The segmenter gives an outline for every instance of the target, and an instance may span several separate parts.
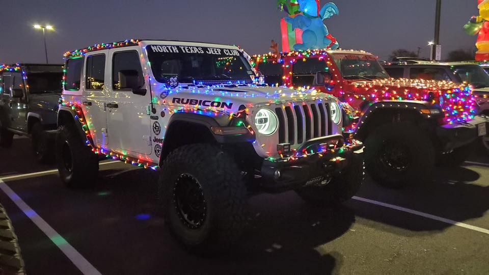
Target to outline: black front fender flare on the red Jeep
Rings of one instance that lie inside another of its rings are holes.
[[[421,113],[422,109],[435,109],[439,108],[437,106],[431,105],[427,101],[415,101],[415,100],[404,100],[404,101],[379,101],[375,102],[372,105],[370,105],[364,115],[360,118],[358,122],[358,127],[355,132],[355,136],[359,140],[364,140],[367,133],[368,133],[368,127],[369,127],[369,122],[372,120],[372,118],[382,112],[386,111],[402,111],[402,112],[409,112],[411,114],[414,114],[420,119],[429,119],[433,118],[435,116],[429,116],[427,114]],[[443,114],[440,114],[440,116],[443,116]]]

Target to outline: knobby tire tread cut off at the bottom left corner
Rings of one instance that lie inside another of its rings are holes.
[[[0,274],[25,274],[18,238],[4,207],[0,204]]]

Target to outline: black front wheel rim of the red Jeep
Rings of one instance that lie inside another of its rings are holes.
[[[381,154],[381,162],[384,166],[394,172],[408,170],[412,157],[408,146],[398,141],[387,141],[384,143]]]

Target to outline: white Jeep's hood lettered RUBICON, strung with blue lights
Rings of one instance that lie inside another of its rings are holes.
[[[256,85],[179,85],[174,89],[159,87],[153,92],[153,96],[157,97],[158,104],[214,107],[227,109],[230,112],[237,112],[241,105],[251,108],[312,99],[338,101],[336,97],[317,92],[316,90],[261,87]]]

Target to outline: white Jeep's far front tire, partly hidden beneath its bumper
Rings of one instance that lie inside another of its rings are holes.
[[[365,176],[363,157],[353,154],[348,166],[323,186],[306,186],[295,190],[306,202],[321,207],[337,206],[351,199],[362,186]]]

